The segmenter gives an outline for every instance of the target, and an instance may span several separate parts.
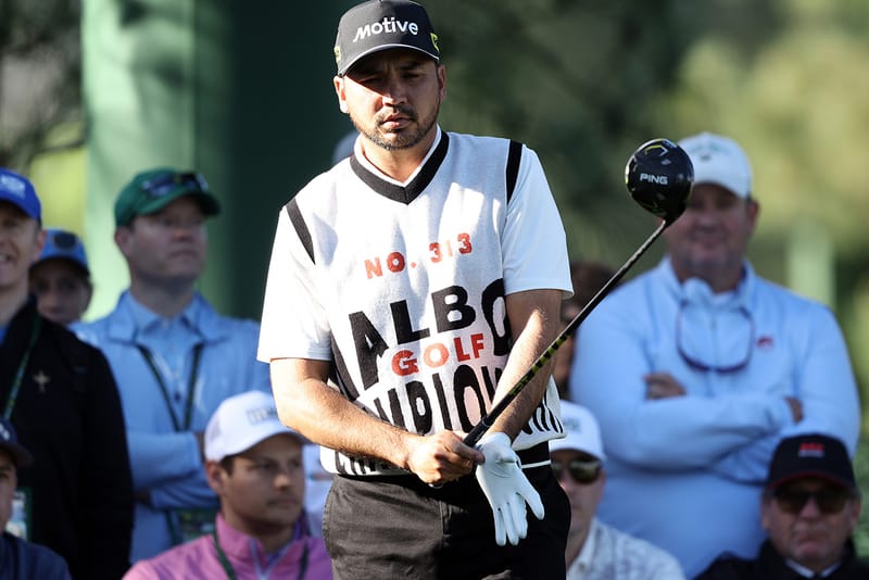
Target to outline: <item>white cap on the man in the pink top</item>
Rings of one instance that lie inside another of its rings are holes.
[[[205,427],[205,458],[219,462],[224,457],[251,449],[278,433],[305,439],[278,419],[275,400],[263,391],[248,391],[221,403]]]

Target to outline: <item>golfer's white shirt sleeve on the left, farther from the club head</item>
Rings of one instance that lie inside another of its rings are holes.
[[[331,360],[329,324],[316,292],[316,269],[286,209],[268,264],[256,358]]]

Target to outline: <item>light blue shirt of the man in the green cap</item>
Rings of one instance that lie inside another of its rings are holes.
[[[150,493],[150,505],[136,504],[130,559],[154,556],[173,545],[167,510],[217,507],[193,433],[205,430],[224,399],[254,389],[270,393],[268,365],[255,360],[259,325],[217,314],[200,294],[175,318],[162,318],[126,291],[108,316],[75,330],[102,349],[112,366],[134,489]],[[150,354],[167,396],[140,348]]]

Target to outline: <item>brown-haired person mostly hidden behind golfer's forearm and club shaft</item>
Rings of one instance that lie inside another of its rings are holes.
[[[576,261],[570,264],[574,295],[562,301],[562,329],[567,328],[615,273],[613,268],[600,262]],[[576,332],[581,330],[580,326]],[[552,379],[555,381],[562,399],[567,399],[570,392],[568,381],[570,380],[570,366],[574,364],[574,342],[572,336],[564,341],[555,353],[552,366]]]

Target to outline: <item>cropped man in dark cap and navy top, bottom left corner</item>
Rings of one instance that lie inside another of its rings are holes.
[[[13,512],[17,470],[30,465],[30,452],[18,444],[15,428],[0,417],[0,530],[5,530]],[[0,540],[0,578],[3,580],[68,580],[66,562],[55,552],[30,543],[8,531]]]

